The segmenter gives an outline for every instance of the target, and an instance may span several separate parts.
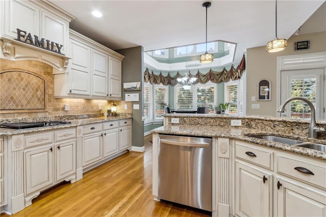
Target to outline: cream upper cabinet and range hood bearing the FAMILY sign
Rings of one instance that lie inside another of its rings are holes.
[[[69,22],[74,17],[48,1],[0,2],[0,58],[68,65]]]

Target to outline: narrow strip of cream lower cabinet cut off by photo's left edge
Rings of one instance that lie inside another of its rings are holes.
[[[8,185],[7,185],[7,142],[5,137],[0,137],[0,210],[7,205]]]

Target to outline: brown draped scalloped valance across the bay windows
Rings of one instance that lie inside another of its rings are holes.
[[[203,74],[198,70],[195,75],[189,74],[189,77],[197,77],[195,84],[206,84],[209,81],[216,84],[240,79],[244,69],[246,69],[246,60],[244,59],[243,54],[242,59],[236,68],[232,65],[228,71],[224,68],[221,72],[216,72],[210,69],[206,74]],[[153,72],[150,73],[148,68],[146,68],[144,72],[144,82],[156,85],[162,84],[166,86],[175,86],[178,84],[177,78],[179,77],[182,77],[179,72],[174,76],[171,76],[170,73],[167,76],[162,75],[162,73],[156,75]]]

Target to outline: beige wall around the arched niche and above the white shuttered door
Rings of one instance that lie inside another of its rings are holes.
[[[271,38],[272,39],[272,38]],[[295,41],[310,40],[310,49],[294,51]],[[326,32],[297,35],[288,39],[285,50],[276,53],[267,53],[264,47],[247,49],[247,115],[276,115],[276,61],[279,56],[300,55],[303,53],[314,53],[326,51]],[[271,83],[271,101],[257,101],[257,83],[261,79],[268,79]],[[251,101],[252,96],[256,101]],[[252,104],[259,104],[259,109],[252,109]]]

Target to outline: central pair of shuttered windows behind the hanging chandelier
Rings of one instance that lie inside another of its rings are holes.
[[[197,110],[197,107],[209,107],[209,112],[214,113],[216,104],[216,84],[211,82],[197,84],[190,90],[184,90],[182,86],[175,86],[176,110]]]

